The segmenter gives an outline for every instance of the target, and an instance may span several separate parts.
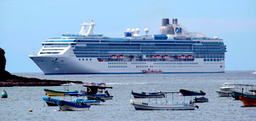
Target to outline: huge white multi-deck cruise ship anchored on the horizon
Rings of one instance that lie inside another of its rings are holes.
[[[160,22],[159,22],[160,23]],[[188,32],[177,19],[162,19],[159,34],[140,34],[127,29],[121,38],[94,33],[92,20],[83,23],[78,34],[50,37],[30,59],[45,75],[224,72],[226,45],[223,39]],[[89,27],[86,32],[86,27]]]

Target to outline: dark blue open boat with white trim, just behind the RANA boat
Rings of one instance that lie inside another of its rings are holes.
[[[133,91],[131,93],[134,98],[163,98],[163,97],[165,97],[164,93],[161,93],[160,91],[159,91],[159,93],[145,93],[145,92],[135,93]]]

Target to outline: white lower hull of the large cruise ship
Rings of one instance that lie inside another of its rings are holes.
[[[146,64],[131,64],[132,62],[135,62],[135,61],[128,61],[127,64],[109,64],[112,61],[100,62],[97,60],[97,58],[44,57],[44,56],[41,56],[41,57],[30,56],[30,57],[33,58],[32,60],[46,75],[142,73],[142,70],[161,70],[163,71],[163,73],[203,73],[203,72],[224,72],[225,70],[224,61],[208,62],[208,61],[203,61],[203,59],[200,59],[200,58],[198,59],[196,58],[194,59],[194,61],[151,61],[151,62],[143,61]],[[53,61],[56,58],[58,58],[59,62]],[[84,59],[84,61],[82,59]],[[156,65],[154,64],[156,62],[168,63],[168,64]],[[193,62],[198,64],[186,64],[186,65],[185,64],[169,64],[170,62],[172,63],[173,62],[175,63]],[[118,67],[110,68],[109,66],[118,66]],[[119,66],[125,66],[125,67],[119,67]],[[144,67],[137,67],[137,66],[144,66]]]

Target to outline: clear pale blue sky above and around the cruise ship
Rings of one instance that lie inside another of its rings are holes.
[[[225,70],[256,69],[255,0],[1,0],[0,47],[9,72],[42,72],[28,57],[48,37],[79,33],[92,18],[94,32],[122,37],[127,28],[158,34],[162,18],[178,18],[190,32],[218,36],[227,45]]]

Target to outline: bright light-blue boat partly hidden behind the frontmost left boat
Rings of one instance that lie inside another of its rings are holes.
[[[58,106],[57,102],[60,99],[53,99],[51,97],[43,97],[43,100],[46,102],[48,106]],[[70,103],[80,103],[84,102],[86,105],[99,105],[100,100],[84,100],[84,99],[73,99],[73,101],[69,101]]]

